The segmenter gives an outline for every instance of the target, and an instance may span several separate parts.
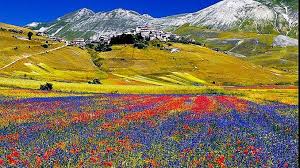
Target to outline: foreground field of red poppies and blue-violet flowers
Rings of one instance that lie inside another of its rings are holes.
[[[224,95],[0,97],[0,167],[298,167],[298,128]]]

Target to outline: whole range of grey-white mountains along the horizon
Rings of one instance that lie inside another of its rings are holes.
[[[26,27],[67,39],[88,39],[122,33],[141,25],[172,31],[184,24],[220,31],[279,32],[298,37],[298,1],[223,0],[195,13],[163,18],[154,18],[125,9],[95,13],[83,8],[53,22],[33,22]]]

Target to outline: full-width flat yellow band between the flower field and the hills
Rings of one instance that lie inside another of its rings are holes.
[[[45,81],[0,77],[0,96],[11,97],[64,97],[93,94],[217,94],[235,95],[257,103],[279,102],[298,105],[298,88],[235,88],[222,86],[142,86],[90,85],[86,83],[52,82],[54,91],[38,91]]]

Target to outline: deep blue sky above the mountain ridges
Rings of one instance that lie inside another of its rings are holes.
[[[195,12],[220,0],[6,0],[0,5],[0,22],[25,25],[49,22],[80,8],[95,12],[115,8],[135,10],[153,17]]]

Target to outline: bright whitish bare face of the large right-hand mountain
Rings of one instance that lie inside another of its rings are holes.
[[[223,0],[201,11],[162,18],[159,24],[165,26],[192,25],[215,29],[229,29],[240,21],[252,19],[262,23],[274,19],[274,12],[254,0]]]

